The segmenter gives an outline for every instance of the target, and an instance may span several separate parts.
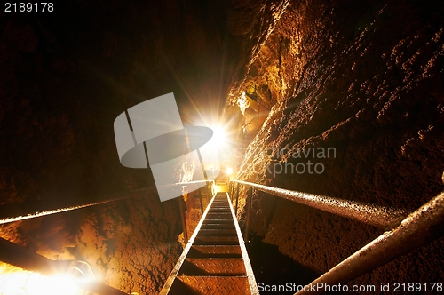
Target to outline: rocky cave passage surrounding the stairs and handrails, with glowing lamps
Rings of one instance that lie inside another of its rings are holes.
[[[231,167],[232,182],[405,214],[444,190],[440,1],[24,4],[5,3],[0,13],[0,238],[15,249],[4,260],[25,250],[75,261],[77,273],[127,294],[161,292],[216,192],[161,202],[151,167],[122,164],[114,123],[167,93],[181,124],[210,127],[226,142],[211,149],[221,149],[220,170]],[[199,167],[169,175],[216,177],[194,174]],[[397,227],[248,194],[241,186],[236,218],[258,285],[310,283]],[[21,218],[29,213],[42,216]],[[440,292],[431,288],[444,283],[441,225],[400,244],[427,243],[346,284],[379,288],[361,294],[394,294],[396,283],[404,293],[402,283]],[[2,262],[0,294],[31,293],[35,280],[52,285],[37,276]],[[54,288],[43,292],[61,293]]]

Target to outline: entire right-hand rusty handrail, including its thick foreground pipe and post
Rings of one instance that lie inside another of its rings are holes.
[[[313,208],[356,219],[367,224],[392,228],[392,230],[378,236],[375,240],[353,253],[353,255],[340,262],[336,267],[331,268],[312,283],[305,285],[294,295],[324,293],[328,291],[326,290],[328,286],[337,286],[341,283],[350,282],[377,267],[387,264],[393,259],[397,259],[426,243],[432,242],[432,240],[442,235],[442,233],[438,233],[439,229],[437,226],[444,222],[444,192],[432,198],[431,201],[425,203],[413,213],[404,215],[406,213],[403,210],[394,210],[392,208],[342,200],[325,195],[313,195],[277,187],[267,187],[242,180],[232,181],[238,184],[237,194],[239,194],[239,184],[242,184],[250,186],[250,188],[255,187],[271,195],[277,195],[297,203],[304,203]],[[251,199],[252,194],[250,193],[248,197]],[[238,203],[237,199],[236,203]],[[247,216],[249,216],[250,203],[251,200],[247,202]],[[362,217],[356,218],[357,214],[361,214]],[[378,214],[383,215],[381,219],[377,217]],[[248,218],[246,224],[246,231],[248,232]],[[246,233],[246,235],[248,234]]]

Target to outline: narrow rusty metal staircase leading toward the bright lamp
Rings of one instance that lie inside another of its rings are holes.
[[[211,199],[161,294],[259,294],[226,192]]]

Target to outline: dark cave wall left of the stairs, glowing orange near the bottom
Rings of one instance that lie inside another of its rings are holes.
[[[119,163],[115,117],[168,92],[185,123],[222,113],[234,73],[245,73],[260,32],[287,4],[53,3],[53,12],[0,12],[1,204],[91,203],[154,186],[150,171]],[[181,251],[178,216],[175,200],[152,194],[0,233],[51,259],[84,259],[123,291],[153,294]]]

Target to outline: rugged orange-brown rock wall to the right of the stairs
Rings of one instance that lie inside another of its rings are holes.
[[[230,92],[235,104],[257,84],[273,105],[240,178],[408,211],[439,194],[443,13],[440,2],[291,2]],[[304,155],[309,148],[314,156]],[[320,148],[336,155],[323,157]],[[255,234],[320,275],[383,232],[260,192],[253,211]],[[442,282],[443,243],[353,283]]]

